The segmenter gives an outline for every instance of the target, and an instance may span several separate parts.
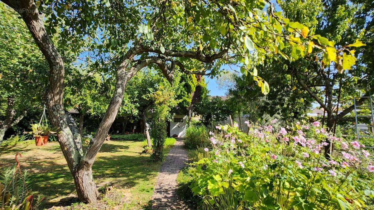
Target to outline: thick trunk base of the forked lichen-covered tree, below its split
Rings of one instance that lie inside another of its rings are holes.
[[[81,201],[94,203],[100,198],[95,182],[92,178],[92,167],[86,166],[73,173],[77,195]]]

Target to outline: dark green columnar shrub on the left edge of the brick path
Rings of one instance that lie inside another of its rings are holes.
[[[153,138],[153,154],[151,159],[154,162],[163,160],[163,145],[166,139],[166,123],[163,121],[155,122],[151,130],[151,137]]]

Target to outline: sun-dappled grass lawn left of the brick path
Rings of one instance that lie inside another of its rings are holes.
[[[174,139],[167,139],[165,155],[174,143]],[[161,164],[150,162],[148,154],[140,154],[144,144],[141,141],[105,141],[92,166],[98,188],[113,186],[121,189],[126,197],[122,209],[149,207]],[[17,152],[22,154],[19,158],[21,169],[30,172],[31,188],[46,198],[43,207],[51,207],[61,198],[76,194],[74,181],[58,142],[37,147],[30,140],[15,146],[0,147],[0,169],[15,164],[14,156]]]

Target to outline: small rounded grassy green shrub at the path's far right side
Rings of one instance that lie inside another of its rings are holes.
[[[208,130],[205,126],[188,126],[186,130],[186,137],[184,145],[188,149],[196,149],[198,147],[208,147],[210,141],[208,140]]]

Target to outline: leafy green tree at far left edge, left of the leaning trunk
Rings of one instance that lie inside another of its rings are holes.
[[[0,4],[0,144],[5,132],[16,125],[29,109],[40,109],[47,66],[14,12]]]

